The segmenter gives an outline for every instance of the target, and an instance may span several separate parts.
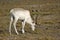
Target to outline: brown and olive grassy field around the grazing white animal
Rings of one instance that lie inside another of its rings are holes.
[[[26,24],[25,34],[22,34],[18,20],[19,35],[13,26],[9,34],[9,11],[17,7],[30,10],[36,23],[34,32]],[[0,0],[0,40],[60,40],[60,0]]]

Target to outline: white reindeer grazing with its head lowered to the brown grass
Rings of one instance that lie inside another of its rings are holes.
[[[10,27],[9,27],[10,34],[11,34],[12,23],[13,23],[13,26],[14,26],[14,29],[15,29],[16,33],[19,34],[17,32],[17,29],[16,29],[16,23],[17,23],[18,19],[20,19],[22,21],[22,33],[25,33],[25,31],[24,31],[25,23],[29,23],[31,25],[32,30],[34,31],[35,23],[33,22],[32,18],[30,16],[29,10],[25,10],[25,9],[22,9],[22,8],[14,8],[14,9],[10,10],[10,14],[11,14],[10,15],[11,16],[11,21],[10,21]]]

